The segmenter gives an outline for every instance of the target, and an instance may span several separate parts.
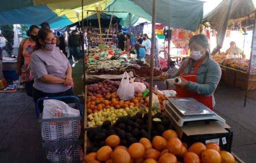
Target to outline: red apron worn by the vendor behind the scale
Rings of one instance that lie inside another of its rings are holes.
[[[188,65],[188,62],[190,61],[190,59],[185,63],[185,65],[183,66],[183,69],[180,72],[180,76],[183,77],[185,80],[191,81],[191,82],[195,82],[197,83],[197,79],[196,79],[196,72],[199,68],[199,66],[201,65],[201,63],[204,60],[201,60],[198,65],[196,65],[195,70],[193,71],[192,74],[183,74],[183,71],[185,69],[185,67]],[[206,97],[204,95],[198,94],[196,92],[192,92],[189,91],[187,89],[182,89],[182,88],[176,88],[175,89],[176,93],[177,93],[177,97],[193,97],[195,98],[197,101],[203,103],[205,106],[207,106],[209,109],[213,110],[212,107],[212,95],[209,97]]]

